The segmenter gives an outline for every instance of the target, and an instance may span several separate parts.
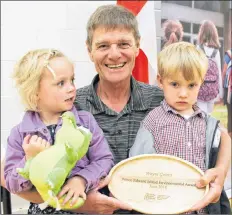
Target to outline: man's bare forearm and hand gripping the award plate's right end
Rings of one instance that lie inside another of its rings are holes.
[[[204,176],[197,182],[197,187],[210,185],[207,195],[195,204],[191,211],[200,210],[210,203],[219,200],[224,186],[224,181],[231,162],[231,138],[226,131],[221,131],[221,146],[219,148],[217,163],[214,168],[208,169]]]

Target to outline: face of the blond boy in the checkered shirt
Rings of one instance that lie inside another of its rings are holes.
[[[201,86],[200,78],[195,81],[186,81],[182,75],[173,78],[161,78],[158,83],[164,91],[166,102],[180,114],[192,114],[192,106],[197,102]]]

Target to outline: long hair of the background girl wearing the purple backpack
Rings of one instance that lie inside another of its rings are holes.
[[[198,44],[207,43],[208,47],[220,48],[218,31],[214,23],[210,20],[204,20],[198,32]]]

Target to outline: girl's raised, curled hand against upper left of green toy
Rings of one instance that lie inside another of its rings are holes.
[[[28,134],[23,140],[22,147],[25,152],[26,159],[28,160],[32,157],[35,157],[37,154],[44,151],[45,149],[49,148],[50,143],[42,139],[41,137],[38,137],[37,135],[33,135],[31,137],[31,135]]]

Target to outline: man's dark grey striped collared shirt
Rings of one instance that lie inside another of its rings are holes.
[[[115,163],[129,157],[140,122],[163,100],[163,91],[136,81],[131,77],[131,96],[124,109],[117,113],[108,108],[96,93],[99,76],[92,83],[77,90],[75,106],[91,112],[104,132],[114,155]]]

